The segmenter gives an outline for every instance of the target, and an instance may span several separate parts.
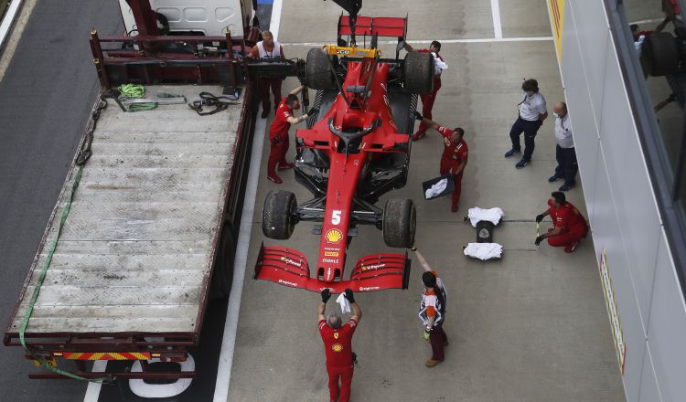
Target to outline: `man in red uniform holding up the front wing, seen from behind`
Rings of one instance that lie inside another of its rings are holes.
[[[336,312],[324,317],[331,291],[321,292],[322,302],[319,304],[319,333],[324,341],[327,354],[328,393],[331,402],[348,402],[350,399],[350,384],[352,383],[353,365],[355,359],[352,353],[352,335],[358,327],[362,311],[351,290],[346,289],[345,297],[350,302],[353,315],[348,323],[341,325],[342,320]],[[340,381],[340,386],[338,386]]]

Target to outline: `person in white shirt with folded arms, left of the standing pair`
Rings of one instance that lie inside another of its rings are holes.
[[[548,110],[545,105],[545,98],[539,92],[539,83],[536,79],[525,79],[521,84],[521,101],[517,105],[520,112],[517,121],[512,124],[509,130],[509,139],[512,140],[512,148],[505,153],[509,158],[515,153],[521,153],[520,135],[524,132],[524,154],[520,162],[515,167],[521,169],[531,162],[531,154],[536,146],[534,139],[539,132],[541,124],[548,117]]]

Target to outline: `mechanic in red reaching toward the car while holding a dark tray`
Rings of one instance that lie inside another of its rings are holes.
[[[453,204],[450,210],[457,212],[460,208],[460,195],[462,194],[462,174],[465,172],[466,160],[469,157],[469,149],[463,139],[465,131],[456,127],[450,130],[447,127],[438,125],[415,111],[414,117],[422,121],[427,127],[440,132],[443,135],[443,155],[441,156],[441,175],[452,174],[455,180],[455,190],[453,191]]]

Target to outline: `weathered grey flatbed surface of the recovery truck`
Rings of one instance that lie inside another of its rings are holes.
[[[151,86],[198,99],[219,86]],[[198,333],[243,99],[199,116],[186,104],[102,111],[26,336]],[[16,337],[57,235],[72,167],[5,337]]]

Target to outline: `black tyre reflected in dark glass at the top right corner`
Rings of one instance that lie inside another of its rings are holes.
[[[648,75],[661,77],[673,74],[679,68],[679,48],[669,32],[658,32],[646,37],[641,50],[641,61]]]

